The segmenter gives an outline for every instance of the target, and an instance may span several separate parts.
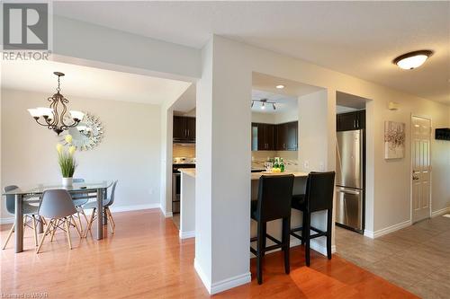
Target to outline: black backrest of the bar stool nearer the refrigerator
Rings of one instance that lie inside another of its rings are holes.
[[[306,202],[310,212],[333,208],[335,171],[311,171],[306,182]]]

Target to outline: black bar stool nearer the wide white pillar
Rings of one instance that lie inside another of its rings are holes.
[[[284,271],[289,274],[289,244],[291,231],[291,203],[293,199],[293,174],[262,175],[259,178],[257,200],[251,202],[251,218],[257,221],[257,237],[250,242],[257,242],[257,250],[250,251],[257,256],[257,283],[263,283],[262,262],[266,251],[282,248],[284,251]],[[266,223],[283,219],[282,241],[266,233]],[[266,247],[266,238],[275,245]]]

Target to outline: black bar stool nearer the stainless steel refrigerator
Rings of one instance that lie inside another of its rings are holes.
[[[306,182],[306,193],[293,196],[292,207],[303,212],[302,227],[291,230],[291,235],[305,244],[306,266],[310,267],[311,239],[327,237],[327,257],[331,259],[331,224],[333,217],[333,194],[335,189],[335,171],[310,172]],[[311,213],[327,210],[327,231],[311,226]],[[315,232],[311,235],[311,231]],[[302,232],[299,235],[298,232]]]

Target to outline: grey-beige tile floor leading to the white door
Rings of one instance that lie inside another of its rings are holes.
[[[370,239],[336,227],[337,254],[422,298],[450,298],[450,218]]]

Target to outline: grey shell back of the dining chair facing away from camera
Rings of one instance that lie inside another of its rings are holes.
[[[47,218],[62,218],[76,213],[72,197],[66,189],[44,191],[40,203],[39,215]]]

